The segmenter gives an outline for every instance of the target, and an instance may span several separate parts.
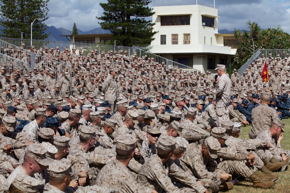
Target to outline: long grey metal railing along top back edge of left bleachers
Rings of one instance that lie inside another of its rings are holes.
[[[15,39],[15,38],[0,38],[0,40],[7,42],[10,45],[15,45],[17,47],[21,46],[21,43],[24,44],[24,48],[29,49],[31,40],[28,39]],[[117,51],[117,54],[119,54],[120,50],[123,50],[123,54],[125,54],[125,51],[128,52],[128,56],[131,56],[134,54],[134,52],[137,53],[137,57],[147,56],[148,58],[154,58],[155,62],[162,63],[164,62],[166,64],[167,68],[174,67],[174,68],[183,68],[183,69],[192,69],[197,70],[193,67],[189,67],[180,63],[177,63],[172,60],[168,60],[167,58],[164,58],[162,56],[158,56],[156,54],[150,53],[146,50],[137,48],[137,47],[126,47],[126,46],[113,46],[113,45],[102,45],[102,44],[86,44],[86,43],[74,43],[74,42],[60,42],[60,41],[44,41],[44,40],[32,40],[32,44],[34,45],[35,49],[44,48],[45,46],[52,47],[55,49],[56,46],[59,46],[59,52],[61,52],[64,47],[67,47],[69,49],[72,49],[75,47],[76,53],[79,52],[79,49],[83,50],[94,50],[97,49],[97,52],[105,52],[108,53],[110,51]],[[87,52],[88,53],[88,52]]]

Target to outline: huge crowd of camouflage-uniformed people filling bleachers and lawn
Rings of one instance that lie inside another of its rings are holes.
[[[37,55],[32,71],[1,57],[0,192],[208,193],[237,179],[272,188],[290,163],[280,121],[289,54],[262,54],[229,77],[224,65],[212,76],[126,50],[24,49],[1,47],[28,63]],[[250,139],[239,138],[249,124]]]

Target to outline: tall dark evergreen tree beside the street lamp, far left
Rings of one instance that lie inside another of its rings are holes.
[[[1,30],[4,37],[30,39],[30,26],[34,19],[42,18],[42,21],[35,21],[32,26],[33,39],[44,40],[49,34],[44,34],[46,25],[43,21],[48,19],[47,6],[49,0],[0,0],[0,21],[5,28]]]

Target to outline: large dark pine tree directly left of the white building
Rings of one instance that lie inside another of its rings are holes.
[[[107,0],[100,3],[103,16],[96,17],[102,29],[113,33],[113,40],[122,46],[147,46],[154,40],[152,21],[145,18],[154,12],[147,5],[151,0]]]

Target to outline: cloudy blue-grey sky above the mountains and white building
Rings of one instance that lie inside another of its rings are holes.
[[[96,16],[101,16],[103,9],[99,6],[100,0],[50,0],[48,2],[49,19],[46,25],[56,28],[64,27],[72,30],[75,22],[77,28],[89,31],[100,27]],[[196,0],[152,0],[153,4],[163,3],[196,3]],[[198,3],[213,5],[214,0],[198,0]],[[245,29],[249,20],[256,21],[262,28],[281,25],[284,32],[290,33],[290,1],[289,0],[215,0],[218,8],[219,30],[234,28]]]

